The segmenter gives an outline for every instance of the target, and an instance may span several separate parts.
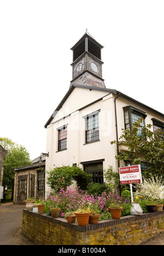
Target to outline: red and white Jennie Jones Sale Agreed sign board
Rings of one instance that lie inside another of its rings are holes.
[[[119,168],[120,184],[142,183],[140,165]]]

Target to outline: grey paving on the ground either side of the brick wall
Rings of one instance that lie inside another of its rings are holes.
[[[34,245],[22,235],[22,212],[25,205],[0,204],[0,245]],[[141,245],[164,245],[164,232]]]

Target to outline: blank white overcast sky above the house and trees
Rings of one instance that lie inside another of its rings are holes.
[[[103,79],[163,113],[163,0],[0,0],[0,137],[46,152],[44,125],[69,90],[86,28],[104,46]]]

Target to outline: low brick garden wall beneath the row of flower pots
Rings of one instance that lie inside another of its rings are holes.
[[[164,211],[129,215],[119,220],[78,226],[65,219],[23,210],[22,234],[34,244],[46,245],[126,245],[140,244],[164,231]]]

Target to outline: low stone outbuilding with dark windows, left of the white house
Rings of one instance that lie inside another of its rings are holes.
[[[45,155],[32,160],[31,165],[15,168],[14,203],[25,204],[29,197],[45,197]]]

